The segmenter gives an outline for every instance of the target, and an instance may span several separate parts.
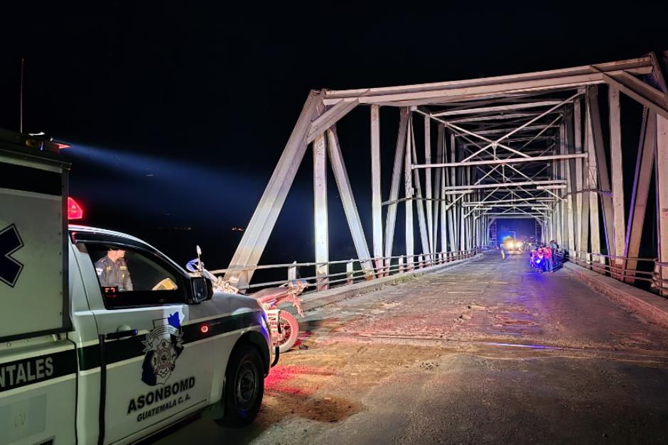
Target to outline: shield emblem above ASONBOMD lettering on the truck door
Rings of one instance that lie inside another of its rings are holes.
[[[183,351],[183,332],[178,312],[167,318],[153,320],[153,329],[146,335],[141,381],[146,385],[164,385],[176,368],[176,359]]]

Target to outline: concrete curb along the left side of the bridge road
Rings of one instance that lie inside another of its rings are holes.
[[[451,268],[455,265],[478,260],[482,258],[483,255],[484,253],[478,253],[478,255],[475,255],[471,258],[465,258],[464,260],[451,261],[450,263],[433,265],[429,268],[414,270],[412,272],[398,273],[397,275],[390,275],[389,277],[356,282],[353,285],[334,287],[333,289],[324,290],[323,292],[315,292],[313,294],[303,295],[303,302],[301,306],[305,311],[310,311],[318,307],[326,306],[327,304],[339,302],[341,300],[347,300],[348,298],[357,297],[358,295],[366,294],[367,292],[373,292],[375,290],[382,289],[385,286],[396,285],[400,282],[414,280],[415,278],[419,278],[422,275],[438,273],[441,272],[441,270]],[[294,312],[292,307],[286,309],[289,309],[289,312]]]

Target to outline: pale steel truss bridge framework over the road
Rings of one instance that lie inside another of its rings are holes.
[[[529,217],[540,225],[544,241],[560,241],[571,261],[619,280],[650,281],[668,295],[667,57],[668,52],[650,53],[521,75],[313,90],[229,267],[217,272],[248,289],[271,284],[251,284],[256,270],[286,268],[292,278],[296,268],[310,266],[317,290],[323,290],[471,256],[490,245],[496,220]],[[637,145],[623,147],[622,95],[640,104]],[[337,134],[338,121],[359,106],[370,113],[371,243]],[[381,183],[380,107],[394,107],[399,114],[394,153],[383,148],[384,156],[394,156],[392,182],[386,185]],[[423,144],[416,144],[416,134]],[[309,147],[315,261],[258,265]],[[623,162],[623,150],[635,154],[635,163]],[[327,158],[355,260],[329,258]],[[625,196],[624,178],[632,178],[630,196]],[[393,256],[397,206],[406,209],[405,252]],[[651,241],[653,256],[639,258],[641,240]],[[339,264],[346,270],[330,273]]]

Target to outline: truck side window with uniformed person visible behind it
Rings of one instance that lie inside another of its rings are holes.
[[[86,243],[107,309],[185,302],[183,279],[149,252]]]

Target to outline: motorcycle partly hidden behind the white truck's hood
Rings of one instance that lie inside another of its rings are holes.
[[[222,277],[216,277],[204,268],[204,264],[200,260],[201,250],[197,247],[198,258],[188,261],[186,268],[191,273],[208,278],[216,289],[222,292],[237,293],[239,289],[232,285],[229,281],[225,281]],[[286,353],[294,346],[299,336],[299,324],[293,314],[285,310],[280,310],[279,305],[284,303],[291,303],[297,309],[300,317],[304,317],[304,312],[301,307],[301,292],[308,287],[308,282],[303,279],[290,280],[278,287],[266,287],[250,294],[249,297],[257,299],[269,316],[271,324],[272,339],[274,339],[274,346],[279,348],[280,353]]]

